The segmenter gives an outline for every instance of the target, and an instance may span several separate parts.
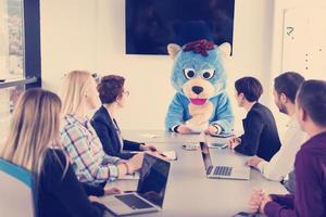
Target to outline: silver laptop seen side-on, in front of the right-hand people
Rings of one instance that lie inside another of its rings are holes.
[[[203,158],[206,177],[211,179],[250,179],[250,167],[233,165],[213,165],[210,149],[206,142],[200,142],[201,155]]]

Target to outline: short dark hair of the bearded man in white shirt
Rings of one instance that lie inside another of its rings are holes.
[[[304,77],[299,73],[287,72],[274,79],[274,88],[277,94],[284,93],[292,103],[296,101],[296,94]]]

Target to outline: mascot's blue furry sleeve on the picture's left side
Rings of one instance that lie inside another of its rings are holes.
[[[178,94],[175,94],[165,117],[165,129],[173,131],[173,127],[184,123],[184,106]]]

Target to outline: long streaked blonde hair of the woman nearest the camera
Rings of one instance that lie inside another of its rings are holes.
[[[42,89],[25,91],[15,105],[0,156],[39,175],[49,148],[60,148],[60,110],[55,93]]]

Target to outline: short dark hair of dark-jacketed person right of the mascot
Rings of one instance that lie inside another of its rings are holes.
[[[238,94],[243,93],[249,102],[254,102],[260,99],[263,93],[261,82],[254,77],[243,77],[236,81],[235,88]]]

